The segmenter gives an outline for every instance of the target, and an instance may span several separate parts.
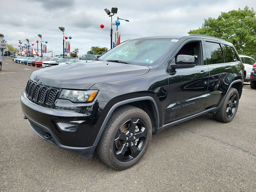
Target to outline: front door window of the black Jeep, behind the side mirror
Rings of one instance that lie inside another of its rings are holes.
[[[200,65],[200,41],[185,44],[176,54],[175,61],[177,60],[178,55],[194,56],[196,65]]]

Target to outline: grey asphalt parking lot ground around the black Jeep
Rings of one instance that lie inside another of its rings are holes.
[[[0,191],[256,191],[256,90],[248,83],[232,122],[207,114],[168,128],[138,164],[116,171],[42,140],[23,119],[20,94],[38,69],[3,58]]]

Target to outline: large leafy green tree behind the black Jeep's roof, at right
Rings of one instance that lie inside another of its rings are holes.
[[[253,8],[248,6],[243,10],[222,12],[217,19],[205,19],[202,28],[190,30],[188,34],[222,38],[231,42],[239,54],[256,58],[256,16]]]

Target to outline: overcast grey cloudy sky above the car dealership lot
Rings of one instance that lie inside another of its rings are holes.
[[[120,18],[118,31],[121,42],[145,36],[187,35],[202,26],[204,19],[217,18],[221,12],[245,6],[256,10],[254,0],[0,0],[0,33],[18,48],[18,40],[36,43],[38,34],[47,40],[48,50],[62,52],[62,32],[72,36],[71,48],[82,48],[85,54],[91,46],[110,48],[110,32],[100,24],[111,27],[104,11],[118,8],[113,21]],[[36,48],[36,46],[34,46]],[[72,51],[72,49],[71,49]]]

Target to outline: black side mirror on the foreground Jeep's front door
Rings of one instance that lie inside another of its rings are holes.
[[[179,69],[179,68],[191,68],[196,66],[195,58],[192,55],[178,55],[176,62],[172,60],[169,68]]]

